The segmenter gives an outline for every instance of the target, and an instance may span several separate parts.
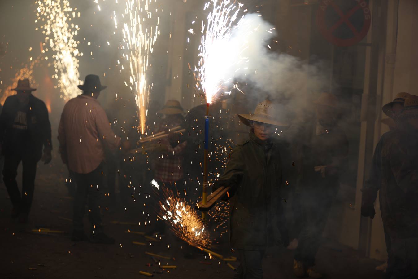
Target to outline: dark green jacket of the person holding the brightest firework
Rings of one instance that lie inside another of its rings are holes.
[[[214,189],[232,187],[229,238],[233,248],[262,250],[282,238],[287,241],[280,197],[285,182],[280,154],[284,152],[284,144],[261,141],[250,132],[250,139],[233,149],[224,174],[214,183]]]

